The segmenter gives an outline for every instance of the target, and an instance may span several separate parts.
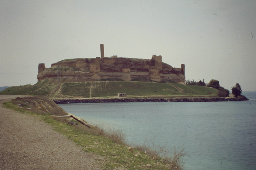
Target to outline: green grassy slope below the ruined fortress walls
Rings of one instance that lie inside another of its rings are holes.
[[[217,96],[214,88],[184,84],[137,81],[96,81],[50,84],[49,80],[35,85],[13,86],[0,92],[2,95],[44,95],[50,98],[116,97],[207,97]]]

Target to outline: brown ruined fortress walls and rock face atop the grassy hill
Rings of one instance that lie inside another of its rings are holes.
[[[50,68],[41,63],[38,70],[38,81],[50,79],[51,83],[102,80],[185,83],[184,64],[181,68],[173,68],[162,62],[162,56],[156,55],[150,60],[117,57],[69,59],[54,63]]]

